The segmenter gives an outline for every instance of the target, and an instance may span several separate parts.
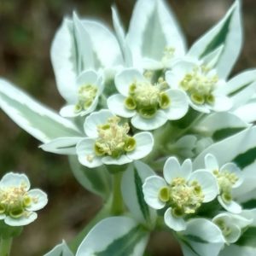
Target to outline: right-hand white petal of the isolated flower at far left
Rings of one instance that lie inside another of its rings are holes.
[[[32,200],[32,204],[29,207],[26,207],[26,210],[33,212],[46,206],[48,202],[47,195],[41,189],[31,189],[27,194],[32,196],[35,200]]]

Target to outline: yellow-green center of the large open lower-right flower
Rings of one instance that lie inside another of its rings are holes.
[[[180,217],[195,213],[201,207],[204,195],[197,181],[188,183],[183,177],[176,177],[171,185],[160,189],[159,199],[172,207],[174,216]]]

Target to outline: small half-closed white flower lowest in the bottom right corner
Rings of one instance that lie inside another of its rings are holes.
[[[226,243],[229,245],[230,243],[236,242],[240,238],[241,230],[251,224],[253,219],[224,212],[212,218],[212,222],[218,225],[218,228],[222,231]]]

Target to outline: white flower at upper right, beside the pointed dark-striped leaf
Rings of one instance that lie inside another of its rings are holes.
[[[172,71],[166,73],[166,82],[172,88],[185,91],[190,107],[199,112],[227,111],[232,107],[230,98],[219,90],[225,81],[202,61],[178,61]]]

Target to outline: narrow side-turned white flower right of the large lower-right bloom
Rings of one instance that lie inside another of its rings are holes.
[[[218,181],[218,201],[221,206],[228,212],[240,213],[241,206],[233,201],[232,189],[238,188],[243,182],[241,170],[234,163],[226,163],[219,167],[218,160],[213,154],[205,156],[205,165]]]

